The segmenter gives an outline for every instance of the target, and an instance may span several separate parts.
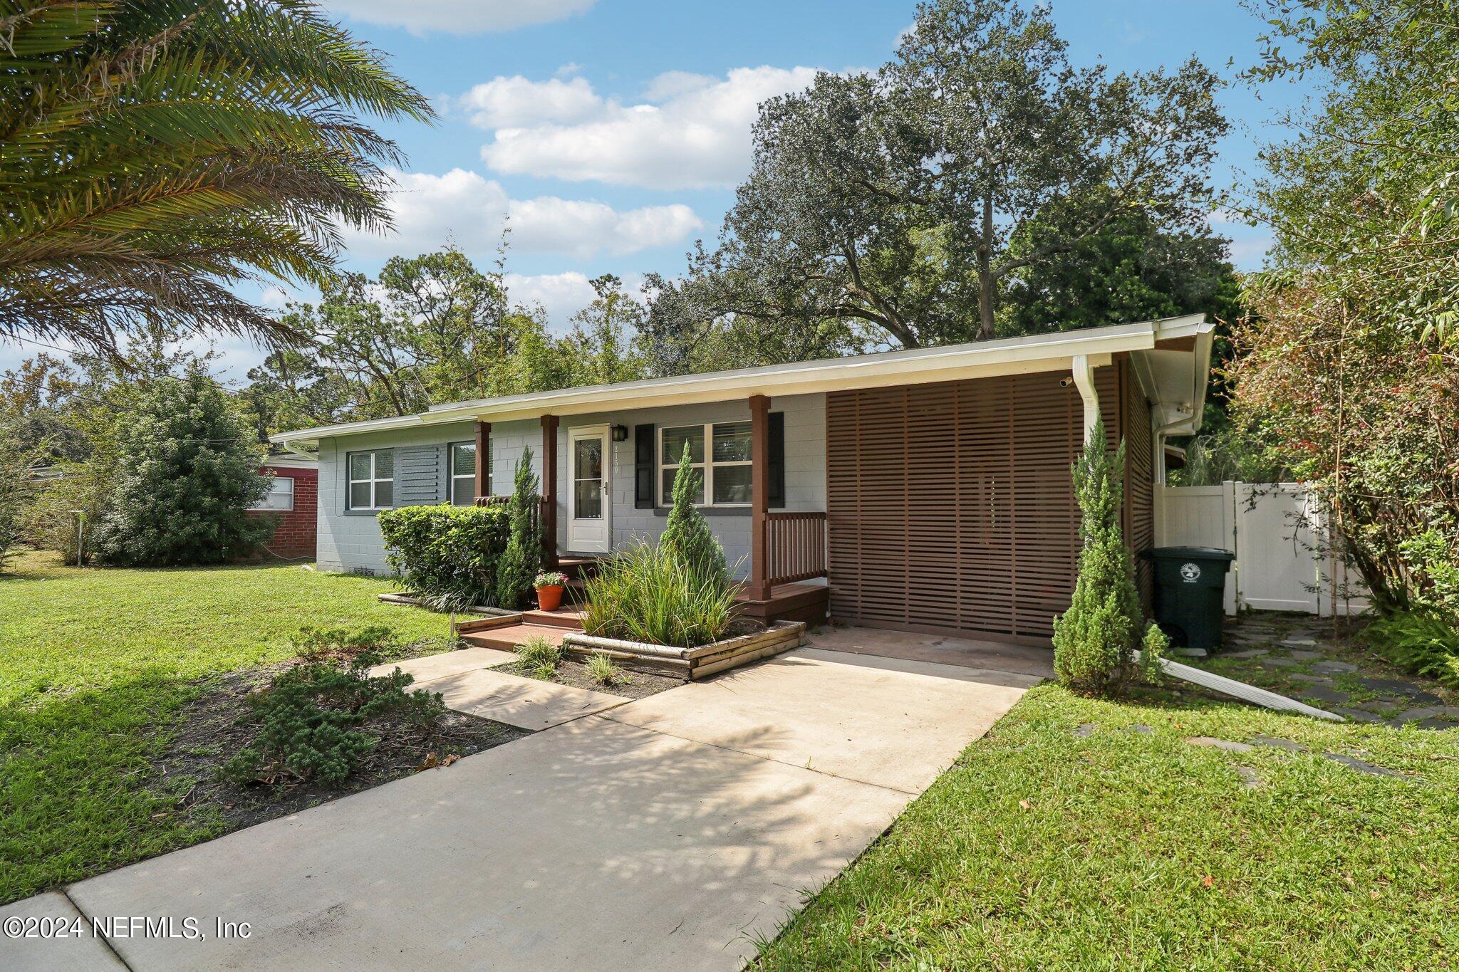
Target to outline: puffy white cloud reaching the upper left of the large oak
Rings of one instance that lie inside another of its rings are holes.
[[[722,80],[670,71],[635,105],[603,99],[591,86],[572,92],[569,102],[560,80],[499,77],[467,98],[495,85],[484,115],[518,119],[479,122],[495,128],[481,159],[498,172],[699,189],[740,182],[750,171],[750,127],[760,102],[801,90],[814,77],[811,67],[738,67]],[[597,99],[591,111],[585,93]],[[566,103],[587,114],[568,119],[560,114]]]

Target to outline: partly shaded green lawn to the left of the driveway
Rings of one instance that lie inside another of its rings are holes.
[[[219,832],[174,812],[190,780],[149,778],[207,676],[289,657],[302,625],[384,624],[446,647],[446,619],[376,600],[388,589],[298,565],[15,558],[0,574],[0,904]]]

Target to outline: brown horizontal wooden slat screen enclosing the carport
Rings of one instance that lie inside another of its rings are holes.
[[[1121,367],[1096,373],[1118,442]],[[1064,373],[826,399],[830,611],[854,624],[1046,638],[1074,589],[1083,440]]]

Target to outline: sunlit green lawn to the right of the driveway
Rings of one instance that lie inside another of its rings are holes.
[[[1202,734],[1280,736],[1310,752],[1185,742]],[[1408,778],[1363,775],[1323,752]],[[1237,767],[1259,785],[1243,785]],[[1189,694],[1116,705],[1042,686],[760,962],[1453,968],[1456,820],[1459,730],[1328,724]]]

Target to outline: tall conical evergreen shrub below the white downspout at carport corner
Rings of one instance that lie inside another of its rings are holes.
[[[1125,443],[1104,449],[1099,423],[1074,463],[1080,503],[1080,573],[1069,609],[1053,619],[1053,672],[1072,689],[1119,697],[1137,678],[1154,681],[1169,643],[1145,624],[1135,564],[1119,528]]]

